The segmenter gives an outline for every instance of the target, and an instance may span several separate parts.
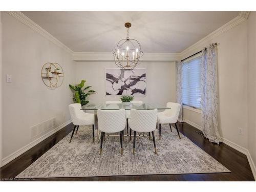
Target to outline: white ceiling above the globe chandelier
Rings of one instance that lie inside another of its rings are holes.
[[[113,52],[125,38],[125,22],[132,23],[130,38],[147,53],[180,53],[220,28],[238,11],[25,11],[36,24],[74,52]]]

